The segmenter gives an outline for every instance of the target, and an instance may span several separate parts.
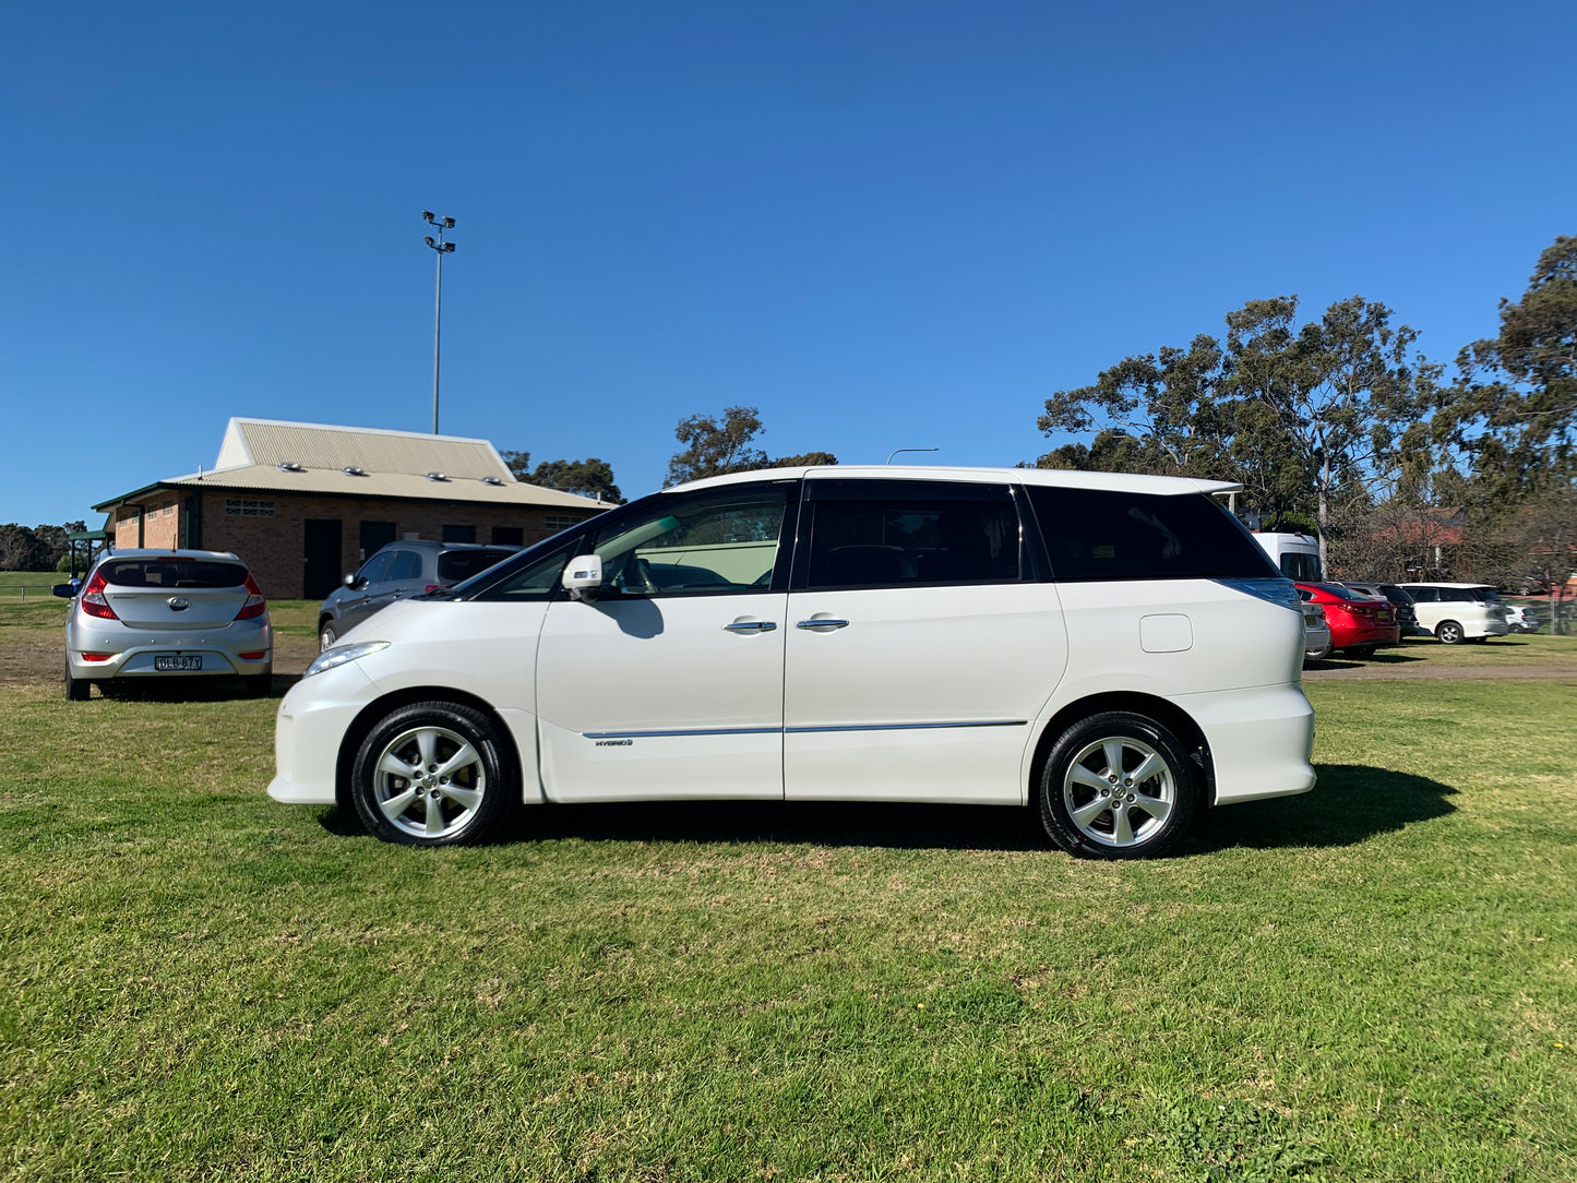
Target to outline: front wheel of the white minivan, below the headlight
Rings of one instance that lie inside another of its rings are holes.
[[[457,702],[418,702],[390,711],[367,732],[352,767],[350,797],[374,838],[462,845],[498,831],[519,800],[517,782],[514,757],[492,719]]]

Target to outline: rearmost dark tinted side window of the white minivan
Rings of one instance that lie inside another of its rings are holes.
[[[1052,577],[1274,579],[1281,574],[1224,505],[1205,494],[1028,486]]]

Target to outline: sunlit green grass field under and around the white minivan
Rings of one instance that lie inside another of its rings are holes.
[[[1572,1178],[1577,688],[1309,694],[1314,793],[1110,866],[900,806],[393,849],[263,795],[271,702],[17,677],[0,1175]]]

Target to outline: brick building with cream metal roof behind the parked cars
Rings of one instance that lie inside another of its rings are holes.
[[[487,440],[230,420],[210,472],[93,506],[117,549],[233,550],[276,599],[320,599],[396,539],[530,544],[609,508],[514,478]]]

